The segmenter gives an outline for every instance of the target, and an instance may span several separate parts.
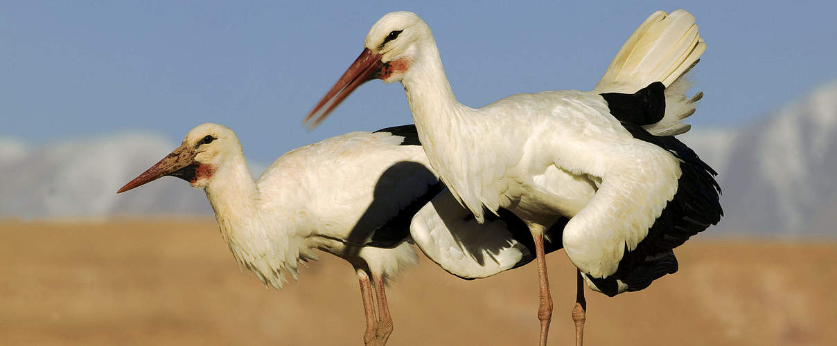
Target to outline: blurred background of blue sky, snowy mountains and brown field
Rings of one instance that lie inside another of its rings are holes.
[[[372,81],[300,125],[390,11],[424,18],[478,107],[592,89],[644,18],[676,8],[708,46],[682,139],[719,172],[726,216],[677,252],[675,276],[589,294],[587,340],[835,343],[837,3],[804,1],[2,2],[0,343],[358,344],[347,263],[268,290],[236,270],[203,192],[116,190],[204,122],[237,132],[254,176],[297,146],[412,122],[403,90]],[[567,274],[551,276],[551,339],[568,344],[573,272],[550,258]],[[422,262],[390,290],[391,342],[535,343],[532,270],[461,282]]]

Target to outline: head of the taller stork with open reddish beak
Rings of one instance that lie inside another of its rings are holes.
[[[320,125],[352,91],[369,80],[381,79],[385,83],[402,80],[410,65],[420,58],[420,45],[427,42],[433,43],[433,34],[418,15],[387,13],[367,33],[361,55],[308,112],[303,123],[308,123],[310,128]]]

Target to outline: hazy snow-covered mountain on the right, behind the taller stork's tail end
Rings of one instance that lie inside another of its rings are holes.
[[[720,173],[719,232],[837,235],[837,81],[757,124],[682,140]]]

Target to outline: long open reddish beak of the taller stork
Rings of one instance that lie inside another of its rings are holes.
[[[355,91],[357,87],[368,80],[375,79],[382,66],[381,54],[372,53],[369,48],[364,48],[361,55],[352,63],[352,66],[349,66],[346,73],[340,79],[337,79],[337,83],[328,90],[326,96],[323,96],[320,102],[308,112],[306,119],[302,120],[302,124],[308,126],[308,130],[314,130],[322,120],[326,120],[332,110],[337,108],[349,94],[352,94],[352,91]]]

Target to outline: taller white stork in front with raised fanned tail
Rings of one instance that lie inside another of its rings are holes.
[[[658,11],[593,91],[515,94],[474,109],[454,97],[428,25],[414,13],[388,13],[305,121],[316,126],[367,80],[400,81],[430,165],[455,199],[477,221],[485,209],[506,208],[529,227],[541,344],[552,316],[543,233],[571,218],[561,241],[578,267],[573,320],[581,344],[582,282],[609,296],[648,287],[676,271],[674,247],[720,220],[716,173],[674,137],[689,130],[680,120],[701,98],[686,98],[683,76],[705,49],[690,13]],[[414,221],[417,242],[422,226],[434,227]]]

